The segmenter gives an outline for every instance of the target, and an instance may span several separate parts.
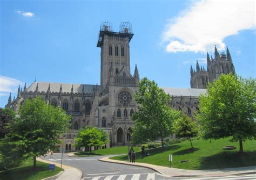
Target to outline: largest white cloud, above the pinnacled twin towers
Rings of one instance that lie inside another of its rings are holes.
[[[191,2],[170,20],[163,35],[167,52],[225,49],[224,38],[255,29],[255,2],[250,0],[202,0]]]

